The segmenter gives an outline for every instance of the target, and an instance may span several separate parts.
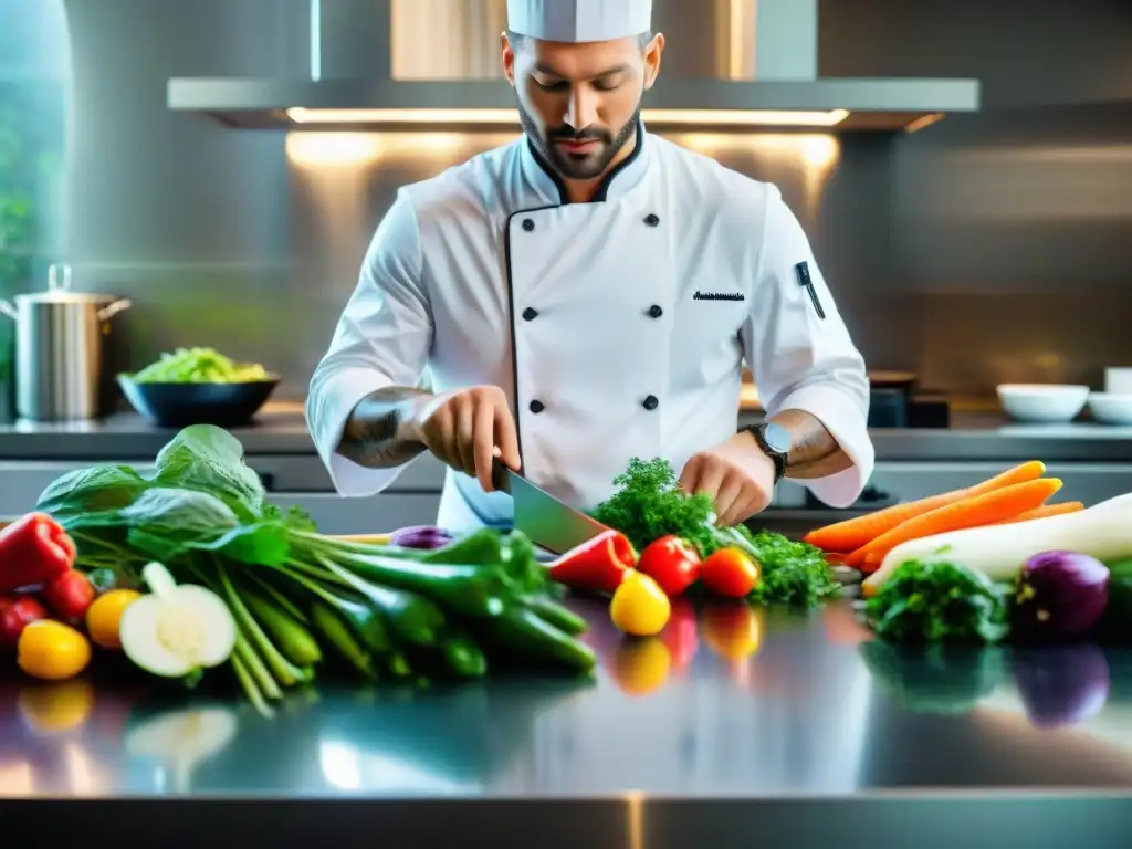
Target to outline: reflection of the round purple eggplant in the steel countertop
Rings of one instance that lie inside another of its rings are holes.
[[[1037,728],[1083,722],[1108,701],[1108,660],[1091,643],[1019,649],[1011,671],[1026,715]]]

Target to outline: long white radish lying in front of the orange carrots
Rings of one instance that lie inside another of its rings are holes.
[[[1132,557],[1132,492],[1077,513],[909,540],[889,551],[863,588],[875,593],[908,560],[946,560],[992,581],[1013,581],[1027,560],[1044,551],[1075,551],[1101,563]]]

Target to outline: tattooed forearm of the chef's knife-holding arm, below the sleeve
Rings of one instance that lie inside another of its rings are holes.
[[[412,429],[415,411],[429,393],[388,386],[367,395],[350,413],[338,453],[368,469],[403,465],[424,451]]]

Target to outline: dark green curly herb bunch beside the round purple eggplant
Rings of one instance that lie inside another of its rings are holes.
[[[997,643],[1010,631],[1004,589],[951,563],[902,564],[865,602],[878,637],[904,643]]]

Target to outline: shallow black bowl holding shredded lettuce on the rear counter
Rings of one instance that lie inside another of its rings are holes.
[[[118,385],[134,409],[160,427],[231,428],[251,421],[280,385],[280,378],[233,384],[149,384],[119,375]]]

